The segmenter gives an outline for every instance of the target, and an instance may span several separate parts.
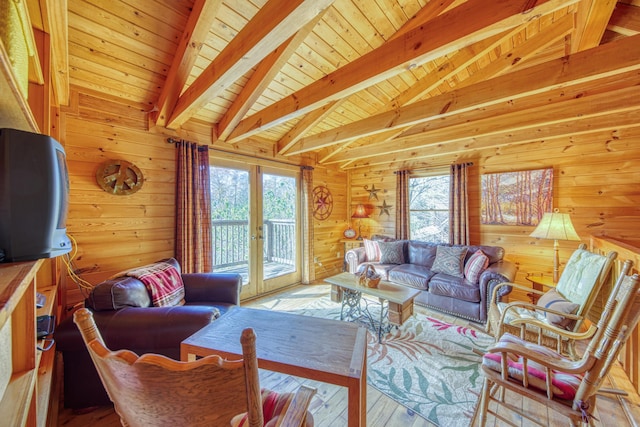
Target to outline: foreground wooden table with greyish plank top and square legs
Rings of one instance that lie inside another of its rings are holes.
[[[348,425],[366,426],[367,331],[353,323],[234,307],[180,345],[180,359],[242,357],[240,334],[256,333],[258,367],[348,389]]]

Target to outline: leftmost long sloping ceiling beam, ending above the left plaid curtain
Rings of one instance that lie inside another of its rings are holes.
[[[180,92],[191,74],[198,53],[207,39],[211,23],[218,14],[221,4],[222,0],[195,0],[193,3],[171,68],[169,68],[162,92],[160,92],[155,105],[157,110],[155,113],[156,125],[165,126],[167,124],[169,114],[178,102]]]

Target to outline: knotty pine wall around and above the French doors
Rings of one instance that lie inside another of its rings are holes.
[[[167,143],[167,137],[212,145],[211,127],[190,123],[180,134],[155,128],[145,108],[73,87],[70,106],[60,112],[59,140],[67,152],[71,186],[67,227],[77,242],[74,266],[81,278],[93,285],[119,271],[174,255],[175,147]],[[212,146],[216,151],[211,156],[244,154],[291,164],[313,162],[307,157],[278,156],[273,144],[266,141]],[[104,192],[95,173],[109,159],[124,159],[138,166],[145,177],[142,189],[128,196]],[[318,277],[342,269],[340,238],[348,218],[346,182],[347,173],[336,167],[314,171],[314,186],[328,186],[334,199],[330,218],[314,220]],[[66,297],[67,306],[83,300],[72,280],[67,280]]]

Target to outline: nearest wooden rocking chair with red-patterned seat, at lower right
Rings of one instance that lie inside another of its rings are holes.
[[[509,333],[490,347],[482,359],[485,380],[475,418],[483,427],[487,414],[506,421],[490,401],[518,413],[537,425],[539,414],[527,412],[525,402],[514,405],[505,391],[545,404],[569,417],[572,426],[591,424],[602,380],[616,362],[620,349],[640,317],[640,280],[637,274],[620,274],[583,356],[579,360]],[[508,423],[508,422],[507,422]],[[473,423],[472,423],[473,425]]]

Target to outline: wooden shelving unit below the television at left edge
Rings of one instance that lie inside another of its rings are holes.
[[[61,278],[56,259],[0,264],[0,414],[3,425],[47,425],[54,383],[55,345],[40,351],[36,316],[58,314]],[[47,303],[36,310],[36,291]]]

